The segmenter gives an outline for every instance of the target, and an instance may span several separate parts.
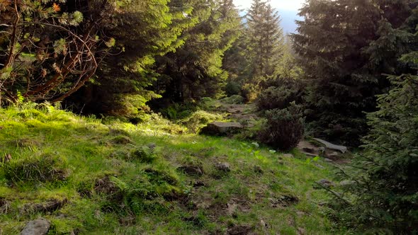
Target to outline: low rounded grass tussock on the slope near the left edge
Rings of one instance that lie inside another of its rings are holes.
[[[4,165],[4,176],[12,183],[57,182],[69,175],[66,162],[50,154],[19,159]]]

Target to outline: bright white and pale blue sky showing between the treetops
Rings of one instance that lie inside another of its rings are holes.
[[[295,33],[295,20],[300,20],[298,10],[305,0],[271,0],[270,4],[278,10],[281,15],[281,26],[284,33]],[[239,9],[247,9],[251,6],[252,0],[234,0],[235,6]]]

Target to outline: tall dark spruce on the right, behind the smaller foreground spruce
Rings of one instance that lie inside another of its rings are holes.
[[[367,130],[363,112],[375,110],[375,95],[388,86],[382,74],[402,71],[396,58],[405,51],[385,42],[407,42],[390,35],[411,13],[407,2],[310,0],[301,9],[305,20],[292,37],[310,85],[307,122],[315,135],[358,145]]]

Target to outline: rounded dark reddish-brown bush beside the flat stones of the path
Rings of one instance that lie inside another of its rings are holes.
[[[260,130],[259,139],[281,150],[296,147],[303,137],[304,120],[300,105],[290,103],[285,109],[266,111],[266,127]]]

